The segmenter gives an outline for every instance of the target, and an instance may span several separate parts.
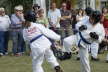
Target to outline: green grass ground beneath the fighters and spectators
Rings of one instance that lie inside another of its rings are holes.
[[[92,72],[108,72],[108,63],[105,63],[106,54],[101,54],[99,62],[91,61]],[[80,63],[76,61],[76,55],[71,60],[59,61],[64,72],[80,72]],[[54,72],[50,64],[44,62],[45,72]],[[3,56],[0,58],[0,72],[32,72],[31,57],[24,55],[21,57]]]

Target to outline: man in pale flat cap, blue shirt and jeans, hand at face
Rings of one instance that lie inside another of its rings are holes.
[[[13,41],[13,54],[21,56],[24,52],[24,40],[22,36],[22,23],[25,22],[23,16],[23,6],[18,5],[14,8],[15,13],[11,15],[11,35]]]

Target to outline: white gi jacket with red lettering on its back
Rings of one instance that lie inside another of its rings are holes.
[[[52,30],[45,28],[41,24],[31,23],[31,26],[28,28],[25,28],[23,30],[23,37],[25,41],[30,42],[35,37],[43,34],[42,37],[32,42],[30,45],[34,48],[49,48],[51,45],[51,42],[48,38],[51,38],[53,40],[60,40],[60,36],[57,35]]]

